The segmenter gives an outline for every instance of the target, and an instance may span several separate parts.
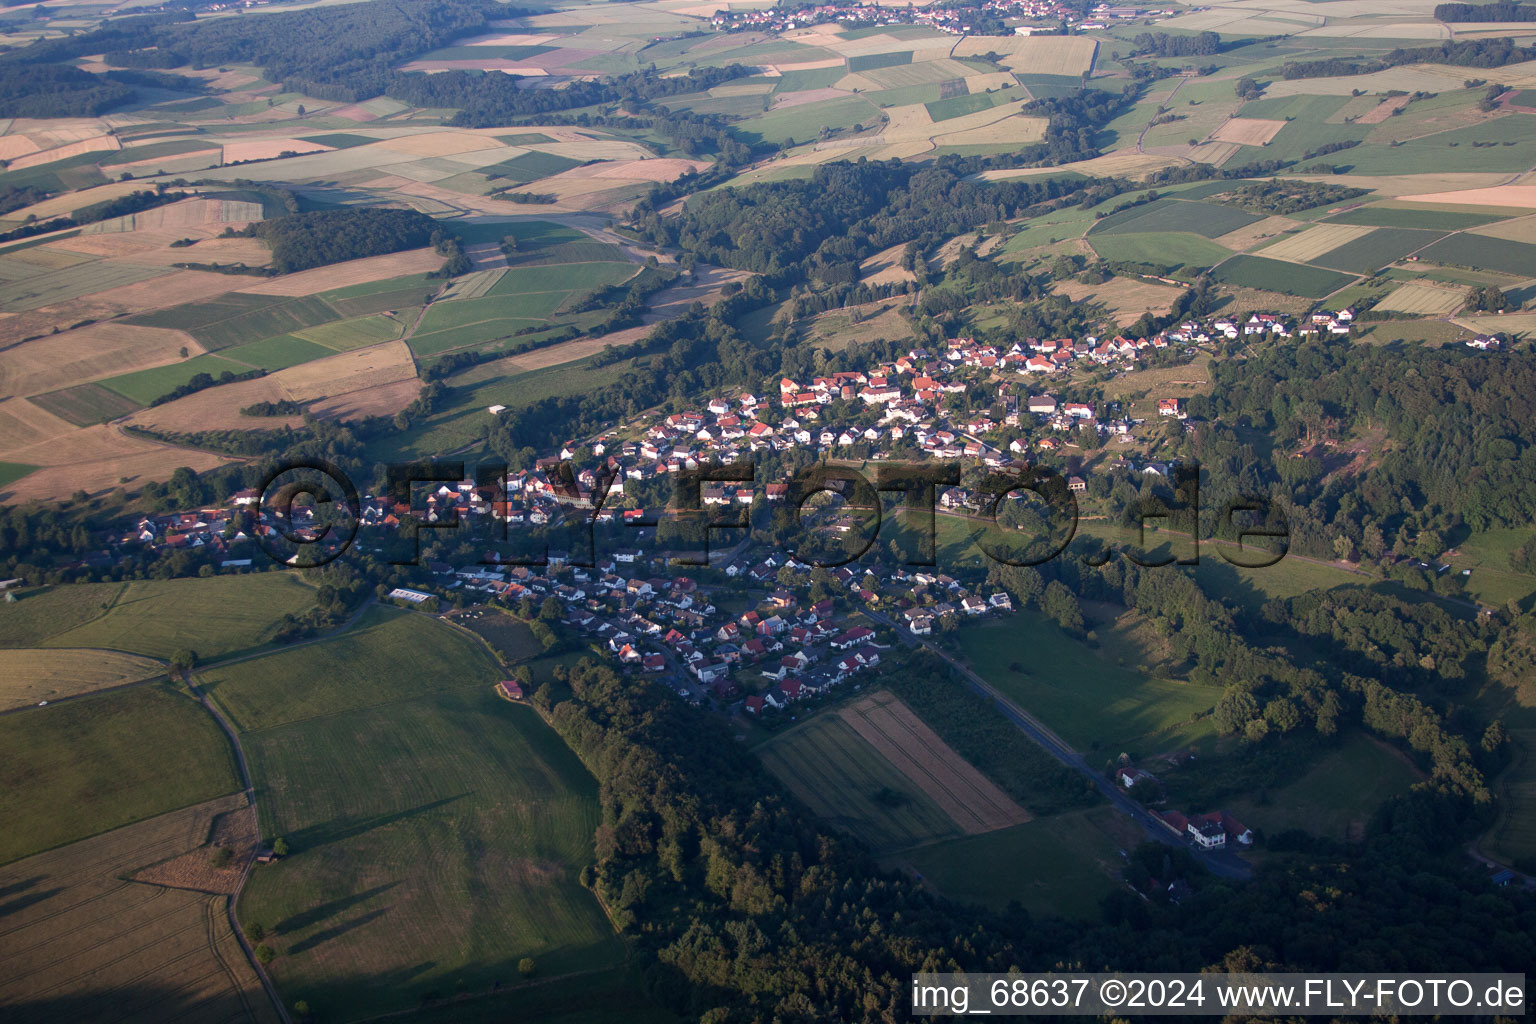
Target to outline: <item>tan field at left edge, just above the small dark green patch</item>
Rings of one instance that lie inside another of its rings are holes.
[[[203,345],[180,330],[91,324],[0,350],[0,398],[40,395],[72,384],[147,370],[200,355]]]

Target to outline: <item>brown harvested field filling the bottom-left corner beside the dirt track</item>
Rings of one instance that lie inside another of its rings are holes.
[[[204,846],[215,818],[244,806],[210,800],[0,867],[0,1015],[275,1024],[226,897],[127,881]]]

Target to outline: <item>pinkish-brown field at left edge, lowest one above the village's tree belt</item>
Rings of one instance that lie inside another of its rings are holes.
[[[146,481],[169,477],[183,465],[203,471],[229,462],[207,451],[129,438],[108,424],[8,451],[6,461],[43,467],[0,491],[0,500],[11,502],[55,500],[77,490],[141,487]]]

